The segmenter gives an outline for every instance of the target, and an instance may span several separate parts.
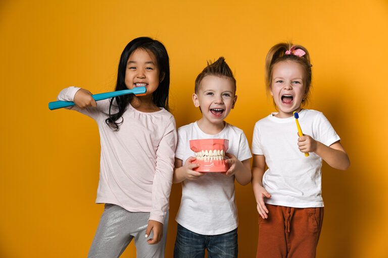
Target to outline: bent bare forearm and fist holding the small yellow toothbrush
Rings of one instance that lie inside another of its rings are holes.
[[[350,160],[340,141],[326,146],[315,141],[311,136],[299,137],[298,146],[301,152],[315,152],[326,163],[335,169],[346,170],[350,166]]]

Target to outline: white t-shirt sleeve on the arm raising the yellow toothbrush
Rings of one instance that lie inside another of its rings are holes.
[[[316,132],[315,140],[326,146],[330,146],[340,140],[329,120],[321,112],[319,112],[316,119],[314,129]]]

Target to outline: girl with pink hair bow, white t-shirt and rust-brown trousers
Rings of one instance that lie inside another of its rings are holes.
[[[252,185],[260,215],[257,257],[315,257],[323,220],[322,159],[337,169],[350,165],[327,118],[302,108],[311,67],[309,53],[300,45],[280,43],[267,54],[267,90],[278,112],[259,120],[253,135]],[[294,112],[304,135],[297,133]]]

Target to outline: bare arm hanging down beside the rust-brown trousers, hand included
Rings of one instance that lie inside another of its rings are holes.
[[[271,195],[263,187],[263,175],[265,172],[264,155],[253,155],[252,166],[252,187],[255,193],[257,211],[263,219],[268,218],[268,209],[265,206],[264,198],[271,198]]]

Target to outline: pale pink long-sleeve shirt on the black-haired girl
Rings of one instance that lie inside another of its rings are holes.
[[[79,89],[62,90],[58,100],[73,101]],[[150,220],[163,223],[177,140],[173,115],[164,108],[141,112],[129,104],[119,130],[113,131],[105,122],[108,99],[98,101],[97,107],[71,109],[90,116],[99,126],[100,181],[95,202],[119,205],[130,212],[150,212]]]

